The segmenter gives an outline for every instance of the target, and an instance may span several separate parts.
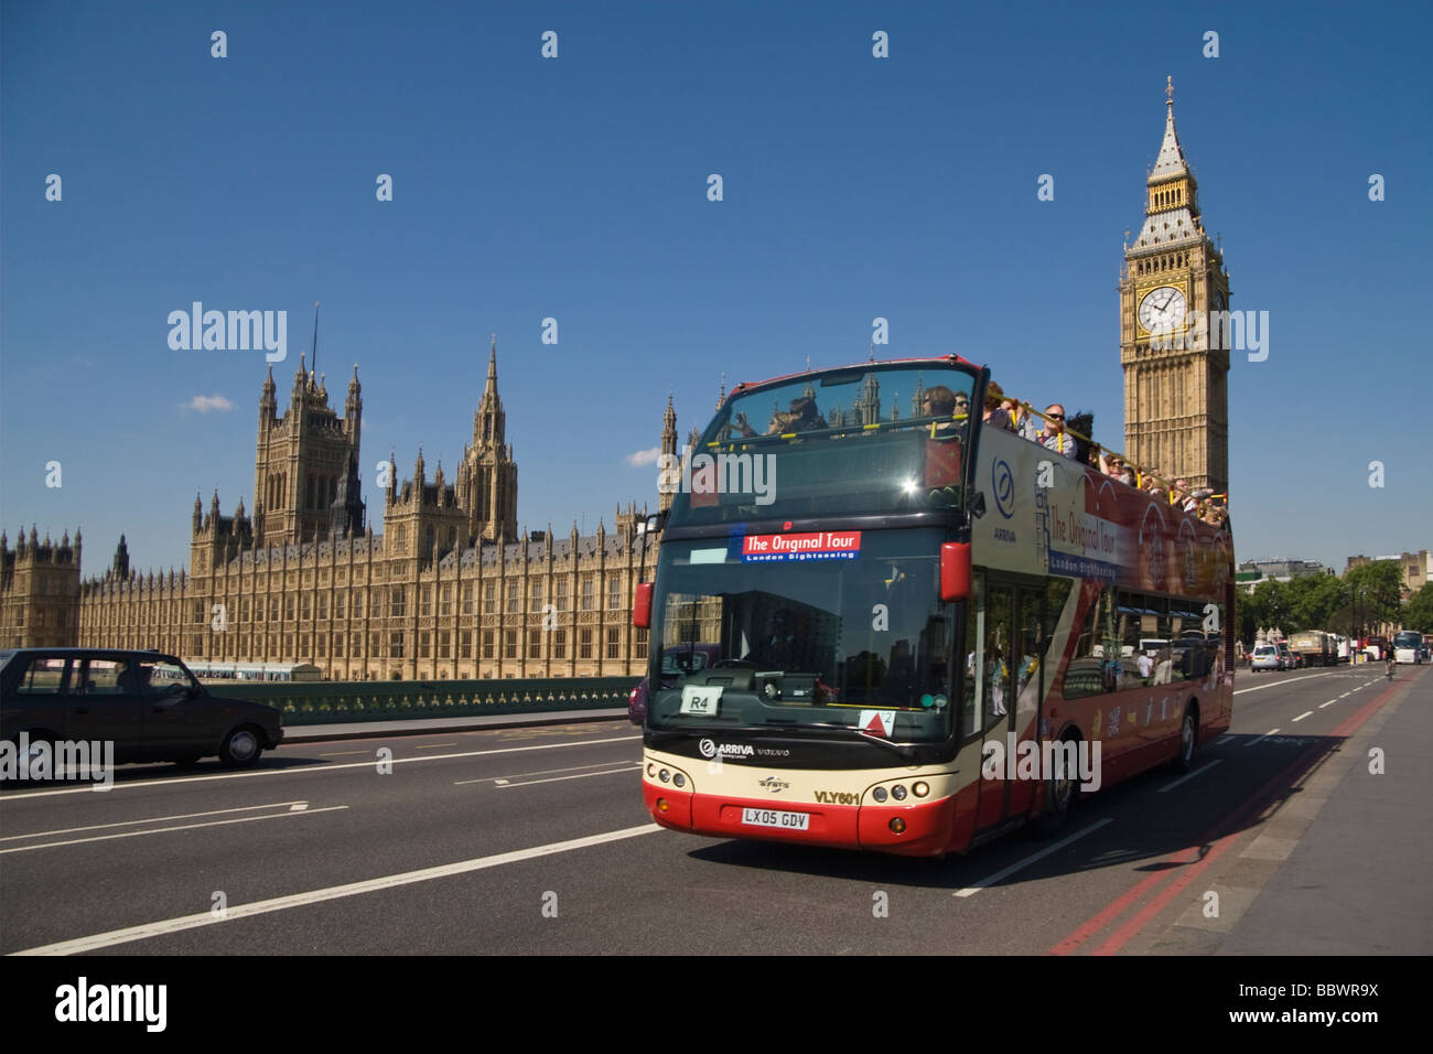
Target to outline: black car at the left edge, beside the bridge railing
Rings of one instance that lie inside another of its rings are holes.
[[[158,651],[0,651],[0,739],[112,741],[115,763],[218,754],[248,769],[284,739],[274,707],[211,695],[189,668]]]

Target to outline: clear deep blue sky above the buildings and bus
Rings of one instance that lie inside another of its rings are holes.
[[[685,436],[724,373],[860,361],[876,317],[884,357],[989,363],[1119,446],[1122,242],[1174,76],[1232,305],[1270,313],[1230,376],[1240,558],[1429,548],[1430,30],[1424,4],[7,0],[0,526],[82,523],[92,574],[120,532],[186,564],[196,490],[252,509],[264,353],[171,350],[195,300],[288,311],[281,404],[322,301],[377,523],[390,450],[451,479],[493,331],[530,529],[655,509],[629,456],[668,393]]]

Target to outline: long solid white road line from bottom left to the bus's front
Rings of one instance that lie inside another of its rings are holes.
[[[535,846],[532,849],[517,849],[510,853],[497,853],[496,856],[479,856],[471,860],[459,860],[457,863],[444,863],[437,868],[423,868],[421,870],[407,870],[397,875],[385,875],[384,878],[367,879],[364,882],[350,882],[344,886],[328,886],[327,889],[312,889],[307,893],[292,893],[289,896],[275,896],[268,901],[255,901],[254,903],[229,905],[225,912],[225,918],[216,918],[208,911],[199,912],[196,915],[181,915],[173,919],[163,919],[160,922],[149,922],[142,926],[129,926],[128,929],[112,929],[107,934],[93,934],[90,936],[80,936],[73,941],[59,941],[56,944],[40,945],[39,948],[26,948],[24,951],[10,952],[11,955],[75,955],[79,952],[97,951],[100,948],[113,948],[119,944],[129,944],[130,941],[145,941],[153,936],[163,936],[165,934],[178,934],[185,929],[198,929],[199,926],[212,926],[218,922],[234,921],[248,918],[251,915],[265,915],[268,912],[284,911],[287,908],[301,908],[308,903],[321,903],[324,901],[337,901],[341,896],[357,896],[358,893],[370,893],[378,889],[394,889],[397,886],[407,886],[414,882],[428,882],[430,879],[449,878],[451,875],[466,875],[474,870],[483,870],[486,868],[499,868],[504,863],[516,863],[519,860],[530,860],[539,856],[552,856],[553,853],[566,853],[573,849],[586,849],[588,846],[602,845],[605,842],[618,842],[625,837],[635,837],[638,835],[651,835],[661,830],[655,823],[645,823],[641,827],[626,827],[623,830],[609,830],[603,835],[588,835],[586,837],[575,837],[567,842],[552,842],[545,846]]]

